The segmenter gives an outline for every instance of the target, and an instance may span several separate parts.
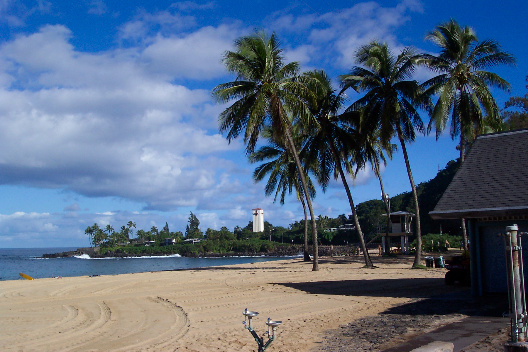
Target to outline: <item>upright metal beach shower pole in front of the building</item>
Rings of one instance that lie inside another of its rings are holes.
[[[508,300],[510,303],[512,341],[528,340],[526,331],[526,300],[524,292],[524,270],[522,262],[521,233],[517,224],[506,226],[506,267],[508,276]]]

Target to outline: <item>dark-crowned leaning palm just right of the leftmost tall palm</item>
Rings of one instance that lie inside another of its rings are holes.
[[[353,144],[356,137],[354,136],[354,129],[347,125],[347,123],[350,123],[350,117],[353,113],[337,115],[343,107],[346,97],[343,91],[336,94],[335,89],[332,88],[331,79],[328,78],[324,71],[308,71],[304,73],[304,76],[309,78],[309,87],[316,92],[316,99],[310,104],[310,109],[319,123],[319,128],[313,130],[306,142],[305,148],[308,150],[306,158],[318,160],[318,182],[322,186],[323,191],[326,191],[332,173],[336,180],[341,178],[348,197],[348,203],[350,204],[350,210],[352,211],[352,217],[354,218],[354,225],[363,251],[365,266],[373,268],[374,265],[366,249],[352,193],[343,170],[343,166],[345,166],[346,172],[353,174],[352,167],[348,163],[348,157],[354,151],[355,146]]]

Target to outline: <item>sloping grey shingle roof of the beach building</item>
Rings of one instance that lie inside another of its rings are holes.
[[[528,215],[528,129],[478,136],[429,215]]]

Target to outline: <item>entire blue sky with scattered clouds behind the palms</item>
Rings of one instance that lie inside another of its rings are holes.
[[[241,142],[216,129],[222,107],[209,92],[231,79],[221,53],[253,28],[276,31],[288,60],[337,77],[374,38],[435,52],[424,35],[454,17],[517,57],[496,72],[524,95],[527,15],[513,1],[3,1],[0,247],[87,245],[94,222],[183,231],[190,211],[203,230],[246,225],[257,206],[275,225],[301,218],[295,199],[280,206],[263,195]],[[499,106],[509,96],[495,92]],[[423,136],[409,146],[416,183],[456,158],[455,145]],[[380,198],[372,176],[356,180],[356,204]],[[401,153],[383,178],[391,195],[410,190]],[[340,183],[314,206],[350,213]]]

